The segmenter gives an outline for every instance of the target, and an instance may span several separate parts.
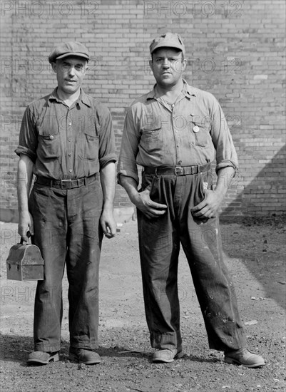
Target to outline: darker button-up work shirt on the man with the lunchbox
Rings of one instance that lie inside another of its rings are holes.
[[[56,90],[26,108],[16,154],[31,158],[35,175],[55,180],[88,177],[116,161],[108,108],[82,90],[68,107]]]

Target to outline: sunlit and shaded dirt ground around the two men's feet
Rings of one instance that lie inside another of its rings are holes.
[[[1,392],[247,392],[285,391],[285,217],[222,222],[225,262],[236,282],[249,348],[265,357],[263,368],[223,362],[208,343],[188,265],[181,252],[179,292],[185,355],[153,364],[145,324],[137,222],[105,239],[101,257],[100,347],[96,366],[68,361],[68,302],[60,361],[26,366],[33,349],[35,282],[6,279],[9,248],[17,225],[1,223]]]

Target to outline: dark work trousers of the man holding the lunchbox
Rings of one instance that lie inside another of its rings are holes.
[[[58,351],[63,315],[62,279],[68,277],[70,344],[98,346],[98,267],[103,233],[103,195],[99,177],[90,185],[61,190],[34,184],[29,209],[34,244],[44,258],[44,281],[36,289],[35,351]]]

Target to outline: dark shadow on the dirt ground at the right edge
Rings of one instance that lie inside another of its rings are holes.
[[[265,296],[285,309],[286,215],[235,217],[231,221],[223,217],[221,230],[230,262],[238,257],[252,279],[262,285]]]

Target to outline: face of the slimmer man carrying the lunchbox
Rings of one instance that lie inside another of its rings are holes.
[[[81,83],[88,70],[87,61],[81,57],[68,56],[52,63],[56,73],[58,88],[66,94],[73,94],[81,88]]]

